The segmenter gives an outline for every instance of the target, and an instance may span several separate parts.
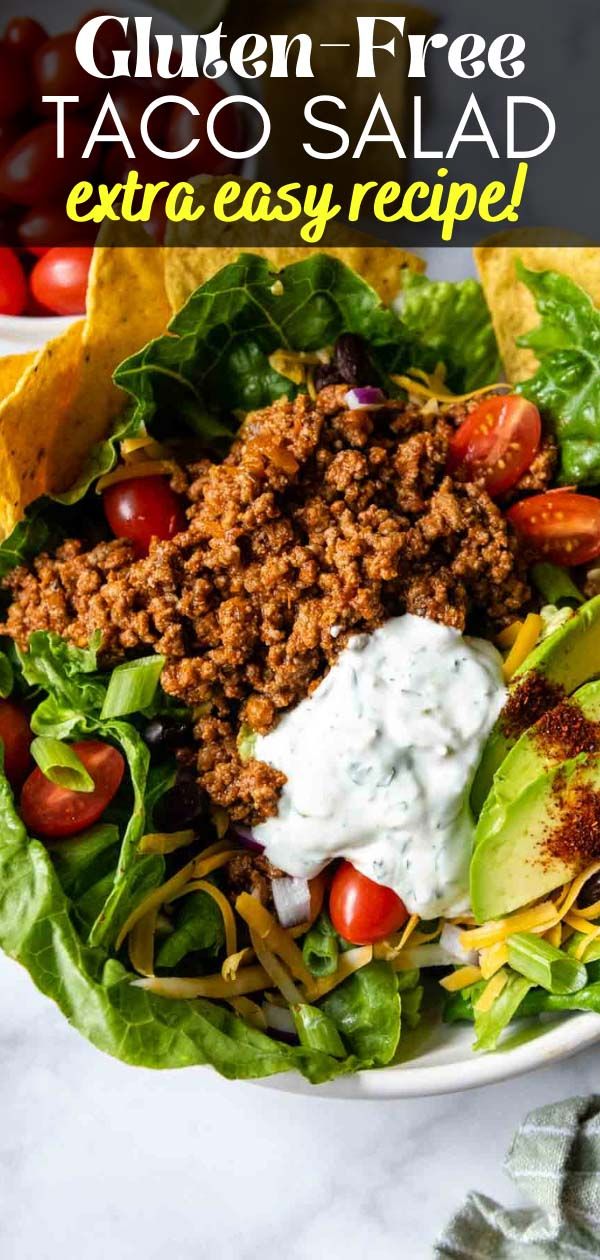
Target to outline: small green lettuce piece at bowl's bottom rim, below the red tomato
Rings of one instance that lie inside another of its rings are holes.
[[[374,961],[361,968],[323,998],[320,1008],[361,1066],[383,1067],[393,1058],[400,1041],[401,1003],[389,963]]]

